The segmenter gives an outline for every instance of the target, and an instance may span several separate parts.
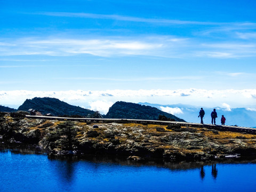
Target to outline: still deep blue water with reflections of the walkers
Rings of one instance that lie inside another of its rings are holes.
[[[188,169],[0,152],[0,191],[256,191],[256,164]],[[179,166],[178,166],[179,167]]]

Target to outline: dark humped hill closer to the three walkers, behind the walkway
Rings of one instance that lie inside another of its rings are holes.
[[[165,113],[155,107],[139,105],[131,102],[118,101],[109,108],[105,118],[127,118],[157,120],[159,115],[164,115],[174,121],[184,122],[183,119],[172,114]]]

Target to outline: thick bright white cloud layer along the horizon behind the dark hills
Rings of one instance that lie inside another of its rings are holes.
[[[51,97],[91,110],[98,110],[106,114],[109,107],[116,101],[149,102],[159,105],[182,103],[199,107],[244,107],[256,108],[256,89],[247,90],[105,90],[105,91],[0,91],[0,105],[18,108],[26,99],[35,97]],[[180,108],[163,108],[162,110],[181,114]]]

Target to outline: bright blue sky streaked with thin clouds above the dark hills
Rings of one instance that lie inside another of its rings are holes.
[[[0,102],[20,105],[24,91],[131,90],[135,99],[88,102],[254,105],[255,10],[254,1],[0,0]]]

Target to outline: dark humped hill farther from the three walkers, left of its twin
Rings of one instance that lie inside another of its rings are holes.
[[[60,101],[55,98],[33,98],[27,99],[18,110],[28,111],[28,109],[36,109],[42,114],[52,114],[54,116],[61,115],[80,115],[87,116],[89,114],[94,114],[94,111],[89,109],[84,109],[82,107],[76,107],[69,105],[66,102]]]

